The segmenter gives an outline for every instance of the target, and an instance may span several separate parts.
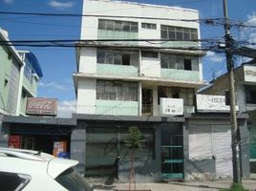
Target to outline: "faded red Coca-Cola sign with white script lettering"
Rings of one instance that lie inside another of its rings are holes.
[[[26,114],[36,116],[56,116],[57,99],[30,97],[27,99]]]

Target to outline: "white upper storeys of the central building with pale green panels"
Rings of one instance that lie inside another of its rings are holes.
[[[198,20],[198,11],[84,1],[83,14],[88,16],[82,19],[81,40],[135,41],[77,44],[78,114],[160,116],[160,97],[181,98],[185,112],[194,111],[193,96],[203,84],[203,53],[179,48],[199,46],[191,42],[200,37],[199,23],[180,20]],[[171,41],[154,41],[160,39]]]

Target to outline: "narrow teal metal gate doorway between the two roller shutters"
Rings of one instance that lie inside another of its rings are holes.
[[[161,128],[161,178],[183,179],[183,135],[181,124]]]

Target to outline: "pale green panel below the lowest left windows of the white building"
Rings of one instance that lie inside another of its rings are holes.
[[[138,116],[138,101],[96,100],[97,115]]]

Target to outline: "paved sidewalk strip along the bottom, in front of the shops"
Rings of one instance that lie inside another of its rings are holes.
[[[136,188],[139,190],[151,191],[218,191],[222,188],[228,188],[230,181],[193,181],[193,182],[168,182],[168,183],[137,183]],[[93,185],[93,184],[92,184]],[[112,191],[128,190],[128,183],[114,183],[104,185],[95,183],[95,191]],[[245,180],[243,185],[250,191],[256,191],[256,180]]]

